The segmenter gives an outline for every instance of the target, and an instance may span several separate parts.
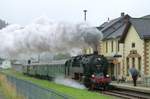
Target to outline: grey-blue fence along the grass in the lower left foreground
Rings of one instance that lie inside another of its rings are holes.
[[[7,81],[11,83],[12,86],[15,86],[17,93],[23,95],[25,99],[72,99],[70,96],[12,76],[7,76]]]

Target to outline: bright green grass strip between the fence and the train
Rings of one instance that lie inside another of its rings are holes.
[[[49,82],[47,80],[41,80],[41,79],[36,79],[33,77],[28,77],[28,76],[23,75],[22,73],[18,73],[18,72],[11,71],[11,70],[5,70],[2,72],[4,74],[14,76],[18,79],[32,82],[34,84],[42,86],[43,88],[53,89],[65,95],[72,96],[75,99],[112,99],[113,98],[111,96],[106,96],[100,93],[87,91],[86,89],[72,88],[72,87],[56,84],[54,82]]]

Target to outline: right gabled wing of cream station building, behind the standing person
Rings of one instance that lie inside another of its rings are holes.
[[[150,76],[150,17],[130,18],[122,34],[124,71],[135,66],[141,77]]]

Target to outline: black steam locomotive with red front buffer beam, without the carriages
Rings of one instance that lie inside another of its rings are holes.
[[[103,55],[98,55],[97,52],[73,57],[66,61],[65,66],[68,76],[71,75],[73,79],[82,80],[87,87],[103,87],[105,89],[111,82],[107,73],[109,63]]]

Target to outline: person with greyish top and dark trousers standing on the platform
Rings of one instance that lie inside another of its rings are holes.
[[[136,81],[138,78],[138,70],[135,68],[135,66],[132,66],[132,68],[129,70],[133,79],[133,84],[136,86]]]

